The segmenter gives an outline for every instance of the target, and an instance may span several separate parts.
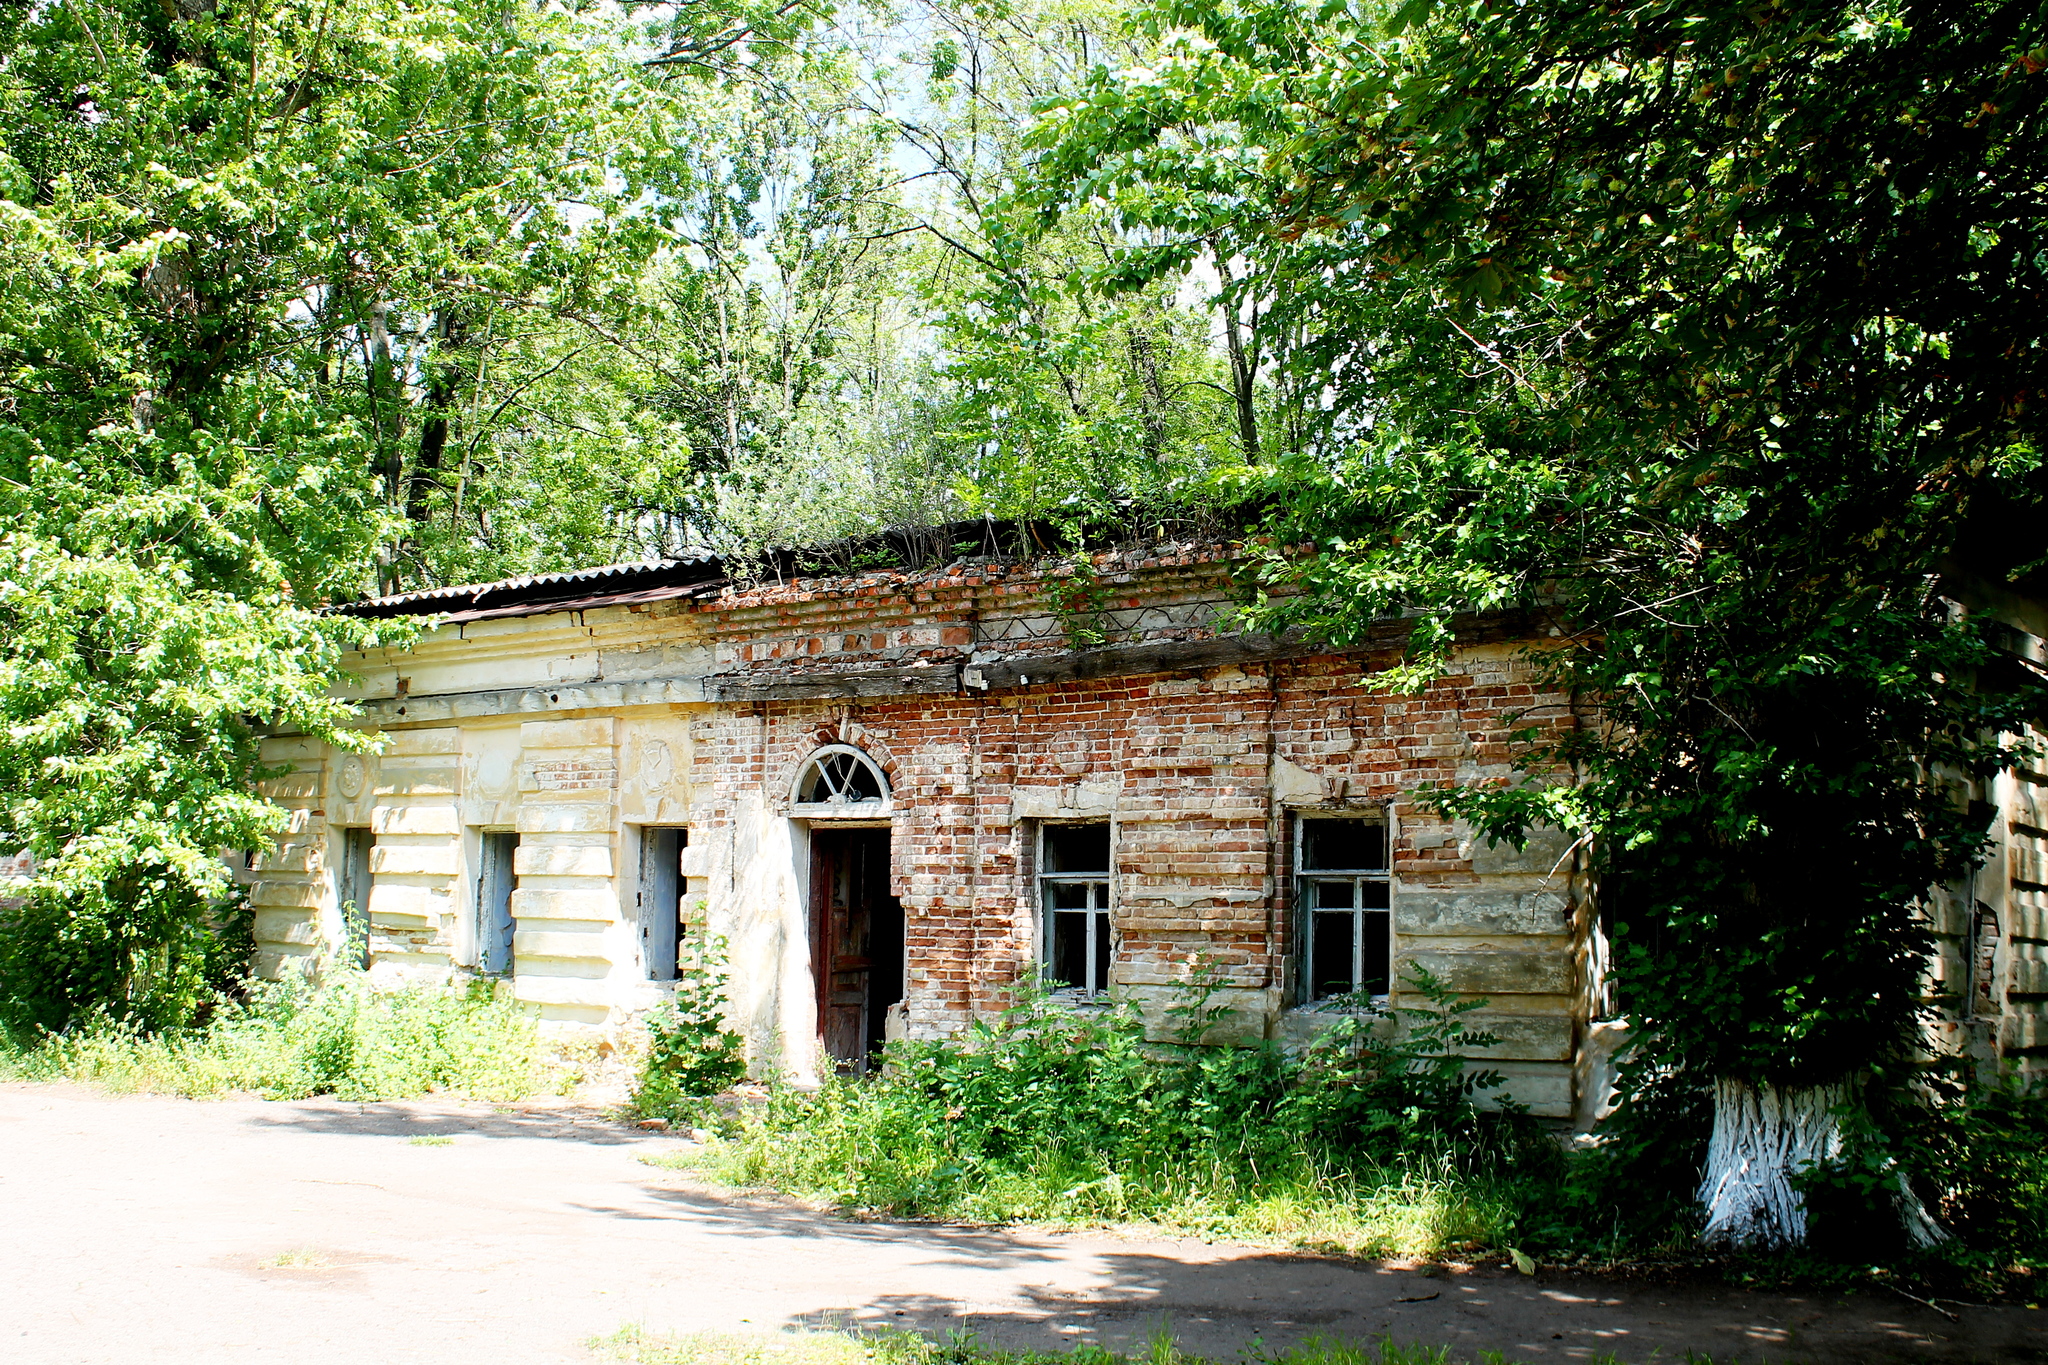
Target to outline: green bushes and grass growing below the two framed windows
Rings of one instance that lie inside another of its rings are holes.
[[[1155,1220],[1356,1252],[1505,1244],[1513,1183],[1556,1148],[1483,1113],[1464,1027],[1434,978],[1399,1031],[1339,1023],[1305,1058],[1206,1048],[1200,980],[1159,1046],[1128,1005],[1042,990],[961,1040],[893,1044],[883,1072],[778,1089],[713,1169],[842,1207],[977,1222]]]

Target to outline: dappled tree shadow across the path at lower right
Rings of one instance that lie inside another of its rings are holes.
[[[848,1257],[915,1246],[928,1271],[1004,1271],[1024,1281],[1008,1304],[930,1291],[885,1293],[795,1314],[784,1326],[973,1330],[1004,1347],[1094,1342],[1139,1351],[1169,1332],[1184,1351],[1231,1359],[1313,1336],[1446,1345],[1454,1355],[1499,1351],[1509,1361],[1686,1361],[1714,1365],[2021,1365],[2048,1363],[2048,1320],[2023,1308],[1964,1308],[1960,1322],[1907,1300],[1747,1293],[1722,1285],[1628,1283],[1538,1271],[1444,1269],[1243,1252],[1202,1244],[1126,1244],[1001,1230],[848,1222],[831,1214],[705,1189],[649,1189],[664,1212],[580,1205],[633,1220],[688,1220],[735,1238],[840,1242]],[[1030,1283],[1087,1246],[1087,1285]],[[1018,1304],[1016,1297],[1024,1302]]]

